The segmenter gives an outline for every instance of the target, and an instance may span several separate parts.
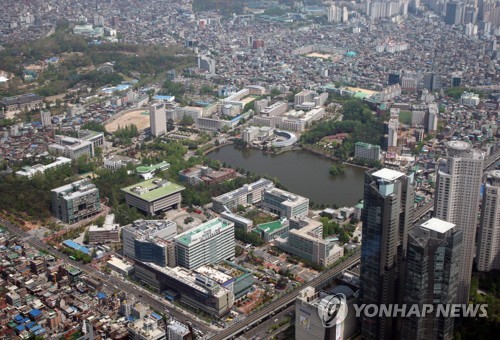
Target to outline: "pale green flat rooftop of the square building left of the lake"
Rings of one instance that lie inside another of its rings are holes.
[[[178,193],[184,189],[185,188],[181,185],[158,177],[153,177],[147,181],[122,188],[122,191],[127,195],[135,196],[141,200],[153,202],[165,196]]]

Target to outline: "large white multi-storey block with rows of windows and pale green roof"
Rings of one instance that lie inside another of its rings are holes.
[[[195,269],[234,258],[234,223],[216,218],[174,238],[177,265]]]

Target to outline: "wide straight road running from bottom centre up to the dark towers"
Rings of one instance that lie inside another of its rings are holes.
[[[360,252],[357,252],[356,254],[349,257],[344,262],[338,264],[337,266],[322,273],[317,278],[310,281],[308,286],[316,287],[316,286],[320,285],[324,281],[331,279],[333,276],[338,275],[342,271],[359,263],[359,260],[360,260]],[[274,312],[283,308],[284,306],[289,306],[290,304],[292,304],[295,301],[295,298],[297,298],[297,296],[299,295],[300,291],[304,288],[305,288],[305,286],[297,287],[295,290],[293,290],[289,294],[281,297],[280,299],[278,299],[276,301],[271,302],[269,305],[267,305],[263,309],[248,315],[243,321],[223,330],[222,332],[218,333],[217,335],[215,335],[211,339],[224,340],[224,339],[229,339],[231,337],[239,335],[245,329],[251,327],[254,323],[259,322],[260,320],[267,317],[268,315],[273,315]]]

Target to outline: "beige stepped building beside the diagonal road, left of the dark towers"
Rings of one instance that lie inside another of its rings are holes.
[[[298,225],[298,229],[292,229]],[[327,267],[344,256],[344,248],[333,240],[323,239],[323,223],[300,218],[290,220],[287,238],[278,238],[277,247],[320,266]]]

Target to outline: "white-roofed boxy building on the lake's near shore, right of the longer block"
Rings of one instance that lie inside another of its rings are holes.
[[[269,188],[264,190],[262,208],[279,217],[288,219],[307,216],[309,213],[309,199],[282,189]]]

